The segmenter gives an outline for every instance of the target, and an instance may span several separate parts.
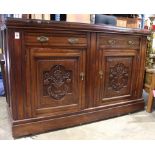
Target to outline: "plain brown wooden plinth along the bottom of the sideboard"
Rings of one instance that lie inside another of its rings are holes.
[[[44,120],[32,121],[32,122],[22,122],[21,124],[13,123],[12,132],[13,137],[18,138],[27,135],[34,135],[38,133],[43,133],[47,131],[63,129],[66,127],[72,127],[76,125],[81,125],[85,123],[95,122],[107,118],[112,118],[136,111],[144,110],[144,102],[139,100],[136,103],[130,103],[126,105],[103,108],[99,110],[92,110],[89,112],[82,112],[78,114],[68,115],[59,118],[46,118]]]

